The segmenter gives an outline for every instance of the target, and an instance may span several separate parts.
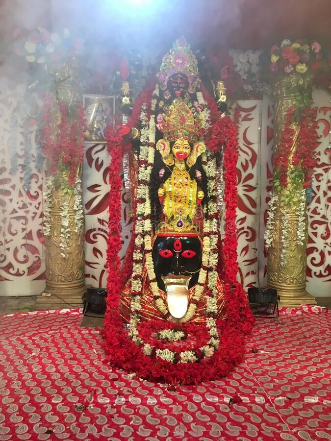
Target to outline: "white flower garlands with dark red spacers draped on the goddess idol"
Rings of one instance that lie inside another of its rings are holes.
[[[153,96],[158,96],[158,88],[154,90]],[[204,104],[204,123],[209,124],[210,120],[210,111],[205,105],[204,98],[202,93],[197,94],[197,99],[200,104]],[[152,99],[152,110],[154,110],[156,104]],[[137,204],[137,216],[138,220],[135,225],[135,245],[137,247],[141,247],[144,244],[145,249],[145,257],[146,257],[146,269],[147,274],[150,280],[151,289],[153,293],[153,297],[155,299],[155,304],[160,312],[164,315],[168,313],[168,309],[166,308],[159,292],[159,288],[156,282],[156,276],[153,265],[152,258],[152,241],[151,241],[151,230],[152,225],[150,221],[151,215],[151,201],[149,198],[149,188],[144,183],[144,181],[149,182],[151,172],[153,169],[154,162],[154,146],[155,143],[155,120],[153,115],[150,118],[149,123],[147,122],[146,116],[146,105],[142,106],[142,112],[140,115],[140,121],[142,125],[141,129],[141,147],[140,147],[140,155],[139,161],[142,163],[142,166],[139,166],[138,176],[139,176],[139,186],[137,190],[138,198],[142,200],[139,204]],[[208,126],[208,125],[207,125]],[[151,143],[151,144],[150,144]],[[150,144],[150,147],[146,147],[147,144]],[[205,171],[208,177],[215,177],[216,175],[216,162],[215,158],[212,157],[212,153],[208,155],[208,159],[210,160],[210,164],[205,167]],[[147,166],[146,166],[147,163]],[[142,182],[143,181],[143,182]],[[209,179],[210,181],[210,179]],[[208,182],[208,196],[216,196],[216,182],[213,179],[212,182]],[[210,201],[208,204],[208,211],[210,214],[215,214],[217,212],[217,204],[213,201]],[[145,221],[142,221],[142,217],[148,217]],[[140,217],[140,219],[139,219]],[[210,231],[212,234],[210,234]],[[183,322],[186,322],[193,318],[197,304],[200,301],[201,295],[204,290],[204,285],[206,281],[207,274],[209,276],[209,281],[211,282],[211,291],[212,297],[208,297],[207,299],[207,314],[215,314],[217,312],[217,262],[218,262],[218,251],[217,251],[217,232],[218,232],[218,223],[216,219],[204,220],[204,240],[203,240],[203,258],[202,258],[202,267],[209,268],[208,270],[204,270],[201,268],[199,273],[198,283],[195,287],[195,292],[192,296],[192,300],[195,302],[191,302],[190,306],[184,317],[182,318]],[[211,251],[212,247],[212,253]],[[139,292],[141,294],[141,277],[143,270],[143,251],[142,249],[136,249],[133,253],[133,271],[132,271],[132,281],[131,287],[133,291]],[[210,264],[212,264],[212,268],[210,268]],[[209,266],[209,267],[208,267]],[[140,321],[139,314],[137,311],[141,309],[140,295],[132,295],[131,297],[131,311],[132,314],[130,316],[130,325],[129,325],[129,335],[132,340],[142,346],[142,351],[145,355],[151,356],[153,353],[153,346],[149,343],[144,343],[142,339],[139,337],[137,325]],[[206,327],[209,332],[209,341],[208,343],[201,347],[200,350],[203,354],[204,358],[211,357],[214,354],[215,349],[219,346],[219,336],[216,327],[216,320],[212,317],[206,318]],[[174,331],[174,330],[163,330],[159,332],[159,338],[166,338],[169,341],[178,341],[185,334],[182,331]],[[169,349],[157,349],[156,357],[162,358],[170,363],[175,363],[176,360],[176,352],[172,352]],[[179,352],[179,363],[194,363],[198,361],[198,357],[194,350],[182,351]]]

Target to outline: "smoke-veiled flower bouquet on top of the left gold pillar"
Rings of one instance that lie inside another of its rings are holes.
[[[82,40],[73,39],[67,28],[51,33],[40,26],[31,31],[17,27],[13,37],[15,53],[24,57],[28,63],[38,65],[73,57],[83,49]]]

